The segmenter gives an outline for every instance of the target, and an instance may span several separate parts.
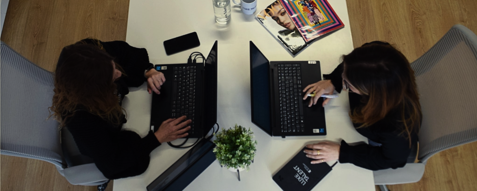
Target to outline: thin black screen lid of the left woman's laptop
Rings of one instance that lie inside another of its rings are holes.
[[[217,40],[205,61],[204,136],[217,123]]]

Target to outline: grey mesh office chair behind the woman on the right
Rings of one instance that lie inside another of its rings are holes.
[[[411,63],[423,113],[417,163],[374,171],[374,184],[420,181],[436,153],[477,140],[477,36],[455,25],[434,47]]]

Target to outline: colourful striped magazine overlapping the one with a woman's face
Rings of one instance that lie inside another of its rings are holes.
[[[327,0],[280,0],[306,42],[344,27]]]

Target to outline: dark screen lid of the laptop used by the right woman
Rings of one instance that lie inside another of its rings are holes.
[[[252,122],[271,135],[269,72],[268,59],[250,41]]]

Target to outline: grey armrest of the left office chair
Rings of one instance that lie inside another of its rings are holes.
[[[104,177],[94,163],[65,168],[63,173],[66,180],[73,185],[94,186],[109,180]]]

